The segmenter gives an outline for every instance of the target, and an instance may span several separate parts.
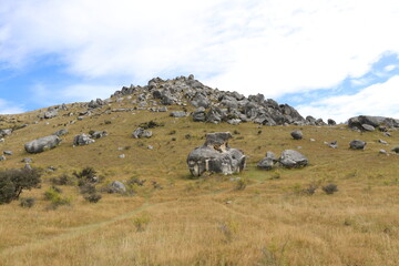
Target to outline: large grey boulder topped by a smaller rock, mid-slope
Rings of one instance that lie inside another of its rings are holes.
[[[229,132],[208,133],[203,146],[188,154],[187,165],[193,176],[205,172],[234,174],[244,170],[245,155],[228,145]]]

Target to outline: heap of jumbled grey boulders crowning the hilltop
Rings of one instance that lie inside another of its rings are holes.
[[[294,108],[288,104],[278,104],[272,99],[265,99],[263,94],[245,98],[237,92],[219,91],[194,80],[193,75],[180,76],[173,80],[154,78],[145,86],[123,86],[116,91],[112,99],[121,99],[125,95],[135,98],[137,109],[149,104],[163,105],[193,105],[197,110],[192,114],[195,122],[222,123],[231,121],[254,122],[263,125],[283,124],[325,124],[323,121],[305,120]],[[101,106],[92,101],[90,108]],[[147,108],[149,110],[152,108]]]

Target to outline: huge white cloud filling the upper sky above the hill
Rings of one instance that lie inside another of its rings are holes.
[[[23,66],[58,54],[89,80],[131,76],[129,83],[143,84],[194,73],[222,90],[277,98],[335,86],[364,75],[382,54],[399,53],[396,0],[0,0],[0,61]]]

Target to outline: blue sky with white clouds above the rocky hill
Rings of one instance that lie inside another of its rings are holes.
[[[154,76],[345,122],[399,119],[397,0],[0,0],[0,113]]]

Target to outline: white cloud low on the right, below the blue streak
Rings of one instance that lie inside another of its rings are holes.
[[[370,85],[352,95],[323,99],[307,105],[297,106],[303,115],[314,115],[345,122],[355,115],[381,115],[399,119],[399,76],[385,83]]]

